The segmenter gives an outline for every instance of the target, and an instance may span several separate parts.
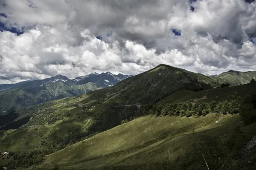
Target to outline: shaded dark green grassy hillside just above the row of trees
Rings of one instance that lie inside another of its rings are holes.
[[[238,85],[228,88],[214,88],[205,91],[187,91],[180,90],[171,94],[158,102],[158,104],[166,103],[179,103],[186,101],[199,101],[199,102],[211,102],[215,100],[216,102],[221,102],[225,99],[232,100],[236,97],[244,97],[251,91],[256,90],[256,82],[251,82],[245,85]]]

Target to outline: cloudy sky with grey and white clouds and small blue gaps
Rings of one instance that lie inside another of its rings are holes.
[[[159,64],[256,70],[256,1],[0,0],[0,84]]]

